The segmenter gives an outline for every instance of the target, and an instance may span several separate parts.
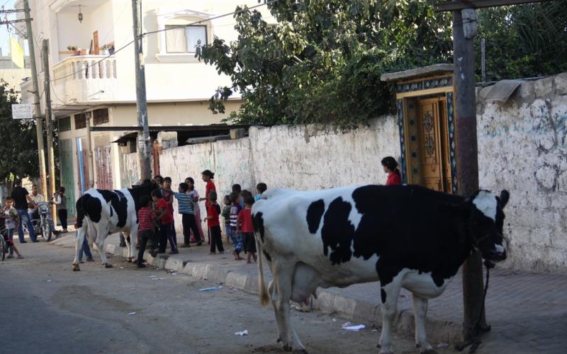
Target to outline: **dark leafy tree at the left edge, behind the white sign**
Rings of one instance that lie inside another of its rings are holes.
[[[0,82],[0,181],[38,176],[38,139],[35,122],[12,119],[12,104],[19,103],[16,91]]]

